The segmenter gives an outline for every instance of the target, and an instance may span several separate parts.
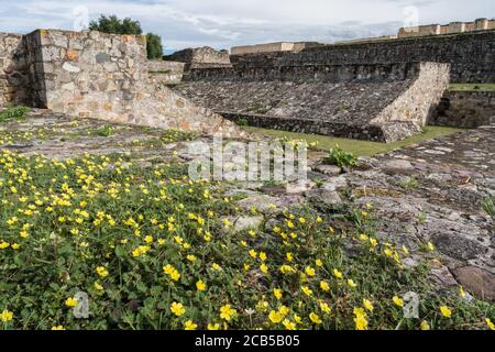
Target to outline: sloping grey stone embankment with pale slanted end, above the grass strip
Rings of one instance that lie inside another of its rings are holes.
[[[386,75],[370,75],[384,68],[372,66],[346,67],[336,72],[352,75],[321,80],[204,79],[175,89],[228,119],[255,127],[380,142],[418,133],[449,84],[449,65],[391,65],[385,67],[395,70]]]

